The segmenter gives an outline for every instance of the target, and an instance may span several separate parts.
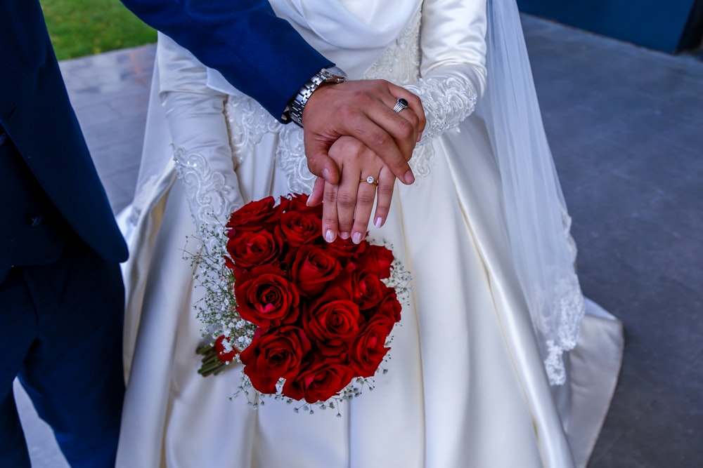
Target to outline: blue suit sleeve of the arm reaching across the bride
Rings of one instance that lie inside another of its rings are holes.
[[[319,69],[333,65],[266,0],[122,0],[280,120]]]

